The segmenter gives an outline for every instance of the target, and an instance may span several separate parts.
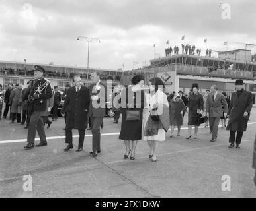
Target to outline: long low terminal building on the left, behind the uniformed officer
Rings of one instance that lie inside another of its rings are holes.
[[[26,86],[26,82],[34,79],[32,69],[34,65],[41,65],[46,70],[46,76],[50,80],[51,86],[59,86],[61,91],[65,90],[66,84],[72,85],[72,77],[80,75],[85,86],[91,84],[91,73],[97,71],[101,74],[101,81],[107,83],[112,80],[113,85],[120,84],[122,70],[71,67],[66,65],[46,65],[34,63],[22,63],[15,61],[0,61],[0,84],[6,90],[9,83],[17,84],[21,82]]]

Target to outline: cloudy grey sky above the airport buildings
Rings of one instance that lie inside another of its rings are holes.
[[[230,5],[230,19],[222,18]],[[224,50],[256,44],[255,0],[0,0],[0,60],[132,69],[185,44]],[[252,47],[256,51],[255,47]],[[249,46],[248,46],[249,48]]]

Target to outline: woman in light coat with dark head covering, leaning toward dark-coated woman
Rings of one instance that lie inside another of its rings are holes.
[[[149,94],[146,94],[146,107],[144,107],[143,123],[142,123],[142,135],[144,140],[148,142],[150,152],[149,159],[152,162],[157,161],[157,143],[159,141],[165,141],[165,132],[169,129],[169,103],[166,94],[163,93],[164,84],[161,78],[151,78],[149,80]],[[159,117],[163,125],[161,128],[157,128],[157,135],[147,135],[148,123],[151,121],[151,111],[153,107],[159,109]],[[161,110],[162,109],[162,110]],[[164,113],[164,115],[163,115]]]

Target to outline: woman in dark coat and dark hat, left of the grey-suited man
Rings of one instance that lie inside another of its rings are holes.
[[[189,109],[189,130],[187,139],[191,138],[192,126],[194,125],[194,139],[197,138],[198,126],[198,117],[204,112],[204,100],[202,95],[198,92],[198,84],[192,85],[192,93],[189,95],[188,109]]]

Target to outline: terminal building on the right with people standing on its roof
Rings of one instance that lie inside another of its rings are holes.
[[[151,77],[160,77],[165,82],[167,93],[181,90],[189,94],[192,84],[197,83],[201,94],[216,84],[220,92],[231,96],[235,90],[235,80],[243,79],[245,89],[253,93],[253,102],[256,104],[256,63],[247,60],[251,57],[250,53],[238,49],[219,52],[218,58],[183,53],[152,59],[148,67],[125,71],[121,83],[129,85],[132,76],[142,73],[146,83]]]

